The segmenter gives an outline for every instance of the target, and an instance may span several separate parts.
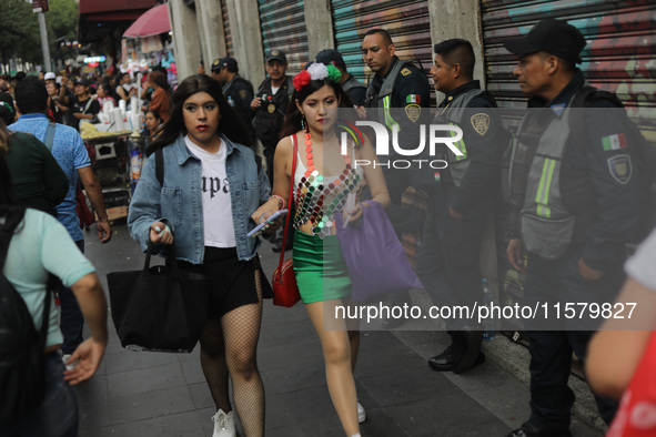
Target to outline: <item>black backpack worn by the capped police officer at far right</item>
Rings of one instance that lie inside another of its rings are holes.
[[[589,108],[593,102],[603,99],[614,102],[618,108],[624,108],[622,101],[612,92],[597,90],[594,87],[584,87],[572,100],[573,108]],[[569,120],[574,142],[578,145],[585,144],[585,130],[576,129],[584,126],[585,120],[583,111],[575,112],[575,116]],[[625,134],[627,141],[636,146],[638,162],[636,163],[643,186],[644,203],[647,211],[642,217],[640,227],[646,236],[650,230],[656,226],[656,146],[649,144],[638,126],[628,118],[623,118]]]

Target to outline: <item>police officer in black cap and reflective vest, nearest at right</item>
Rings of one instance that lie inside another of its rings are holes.
[[[593,101],[588,106],[596,110],[573,109],[584,92],[576,63],[586,45],[575,27],[545,19],[504,45],[519,57],[513,74],[534,108],[517,133],[511,171],[507,257],[513,268],[526,272],[524,303],[554,295],[563,305],[613,302],[624,280],[625,244],[637,242],[640,231],[635,143],[613,99]],[[581,111],[583,122],[572,123]],[[531,417],[509,436],[571,436],[574,394],[567,379],[572,352],[585,362],[592,336],[586,318],[576,326],[571,323],[577,318],[544,325],[562,329],[566,323],[577,331],[527,332]],[[596,400],[604,420],[610,421],[616,404]]]

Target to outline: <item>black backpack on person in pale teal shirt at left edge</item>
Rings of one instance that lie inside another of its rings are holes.
[[[0,247],[0,266],[4,265],[9,240]],[[21,295],[0,268],[0,423],[20,418],[43,402],[46,378],[43,348],[50,321],[49,276],[43,304],[43,319],[38,332]]]

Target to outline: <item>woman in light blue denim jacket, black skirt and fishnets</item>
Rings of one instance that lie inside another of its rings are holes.
[[[185,79],[172,95],[171,119],[148,153],[161,149],[164,183],[149,159],[130,204],[128,226],[147,250],[175,242],[182,268],[211,278],[210,321],[203,332],[201,366],[216,404],[214,437],[235,436],[228,376],[246,436],[264,434],[264,387],[255,362],[262,298],[271,288],[248,237],[250,218],[271,194],[265,172],[221,91],[204,75]],[[264,220],[265,217],[262,217]],[[273,226],[269,232],[273,231]]]

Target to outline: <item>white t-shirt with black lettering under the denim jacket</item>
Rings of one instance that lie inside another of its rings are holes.
[[[210,153],[199,148],[189,139],[189,135],[184,136],[184,143],[202,163],[201,199],[205,246],[236,247],[230,185],[225,173],[225,159],[228,157],[225,143],[221,144],[216,153]]]

